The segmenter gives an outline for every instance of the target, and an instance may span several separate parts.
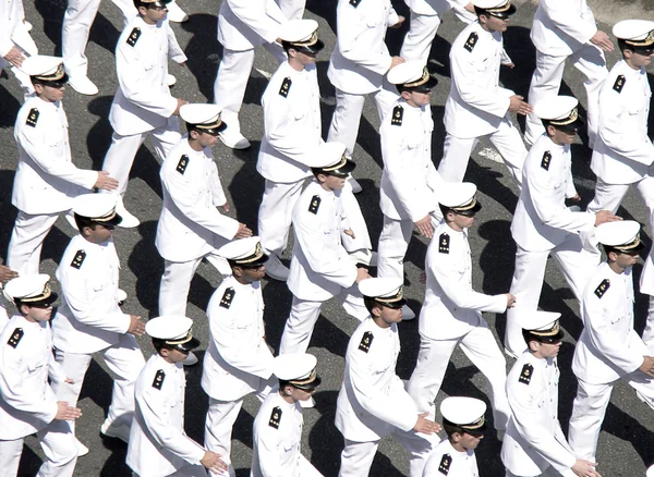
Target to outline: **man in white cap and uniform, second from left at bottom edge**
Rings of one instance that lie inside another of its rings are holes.
[[[184,316],[154,318],[145,326],[155,353],[134,388],[136,408],[126,464],[136,477],[206,477],[227,470],[219,454],[205,450],[184,431],[186,376],[182,362],[199,346],[193,320]]]

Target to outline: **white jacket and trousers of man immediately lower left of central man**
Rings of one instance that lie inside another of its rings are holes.
[[[276,380],[272,353],[265,340],[262,283],[242,284],[226,278],[207,307],[211,339],[205,353],[202,389],[209,395],[205,445],[231,465],[231,433],[243,399],[253,392],[261,401]]]

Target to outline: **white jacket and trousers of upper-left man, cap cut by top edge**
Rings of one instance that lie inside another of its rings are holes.
[[[124,195],[138,148],[148,135],[159,160],[180,140],[178,100],[168,87],[168,58],[186,61],[168,20],[148,25],[137,15],[125,26],[116,47],[118,90],[109,111],[113,127],[102,170],[119,182],[110,194]]]

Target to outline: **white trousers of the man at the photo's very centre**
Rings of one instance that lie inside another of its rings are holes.
[[[363,303],[363,295],[356,284],[343,289],[337,296],[346,313],[360,321],[368,317],[368,311]],[[279,354],[305,353],[308,348],[313,329],[320,316],[323,302],[311,302],[293,296],[291,314],[283,326],[283,333],[279,343]]]

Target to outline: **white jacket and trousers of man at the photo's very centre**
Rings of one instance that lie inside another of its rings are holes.
[[[293,294],[279,354],[304,353],[323,302],[338,296],[346,311],[362,320],[368,314],[356,290],[356,265],[342,245],[350,228],[341,192],[326,191],[314,180],[293,209],[295,243],[287,284]]]

